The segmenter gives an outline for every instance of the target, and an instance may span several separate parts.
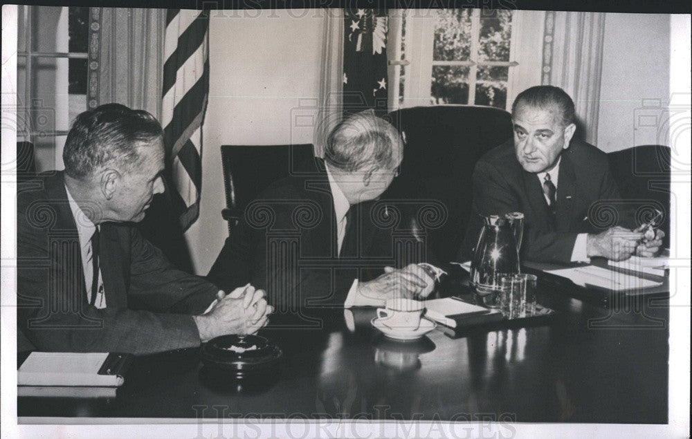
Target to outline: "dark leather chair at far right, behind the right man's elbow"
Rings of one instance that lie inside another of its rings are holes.
[[[638,222],[648,221],[654,209],[664,211],[657,222],[666,233],[664,247],[671,242],[671,149],[661,145],[641,145],[608,153],[610,171],[620,195],[635,211]],[[689,200],[673,200],[689,203]]]

